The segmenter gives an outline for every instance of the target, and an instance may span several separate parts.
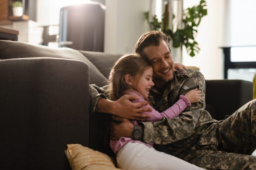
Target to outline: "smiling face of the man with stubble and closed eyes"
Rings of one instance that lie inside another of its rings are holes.
[[[144,48],[143,52],[152,63],[154,82],[167,82],[173,79],[173,56],[164,40],[160,42],[159,46],[149,46]]]

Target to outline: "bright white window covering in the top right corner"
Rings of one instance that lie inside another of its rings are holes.
[[[256,45],[256,1],[223,0],[224,18],[221,46]]]

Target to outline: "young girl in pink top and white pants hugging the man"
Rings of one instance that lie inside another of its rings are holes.
[[[130,54],[122,56],[115,62],[109,77],[108,96],[111,100],[117,100],[122,95],[134,94],[139,96],[138,100],[132,102],[148,101],[149,90],[154,83],[152,81],[153,69],[148,61],[145,61],[137,54]],[[181,95],[179,100],[166,111],[159,113],[153,107],[151,112],[144,112],[150,114],[151,117],[146,121],[159,121],[161,118],[177,117],[187,106],[191,103],[200,101],[200,91],[197,89],[191,90]],[[137,121],[131,122],[138,125]],[[110,147],[117,156],[117,165],[125,170],[198,170],[201,169],[184,160],[174,156],[156,151],[152,143],[142,143],[141,141],[134,141],[132,138],[121,137],[117,141],[110,141]]]

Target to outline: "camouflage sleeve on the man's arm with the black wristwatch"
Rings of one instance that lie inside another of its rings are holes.
[[[143,142],[156,144],[169,144],[191,136],[200,114],[205,108],[205,79],[197,74],[186,81],[195,81],[201,90],[201,101],[186,108],[178,117],[173,119],[163,118],[157,122],[142,122],[144,125]],[[179,93],[179,92],[177,92]]]

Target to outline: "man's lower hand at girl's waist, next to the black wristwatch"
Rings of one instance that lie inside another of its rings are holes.
[[[132,131],[134,129],[134,125],[128,121],[128,119],[121,118],[113,115],[112,118],[116,121],[120,121],[121,123],[111,122],[110,124],[110,139],[111,140],[119,140],[120,137],[130,137],[132,138]]]

